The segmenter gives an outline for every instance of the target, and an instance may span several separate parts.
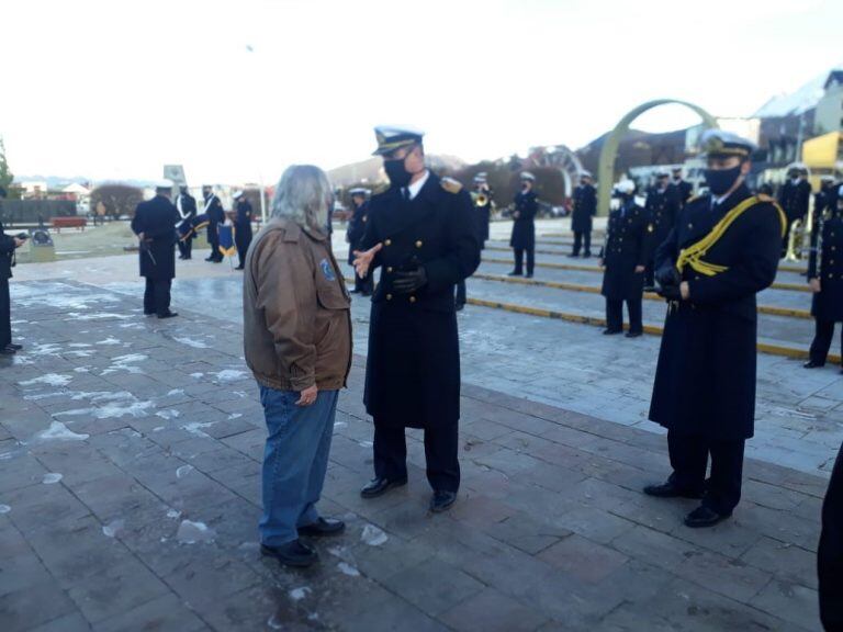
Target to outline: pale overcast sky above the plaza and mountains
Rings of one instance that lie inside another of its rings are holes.
[[[576,148],[655,98],[752,114],[843,61],[840,0],[3,0],[21,174],[267,182],[407,123],[467,160]],[[694,123],[662,108],[637,124]]]

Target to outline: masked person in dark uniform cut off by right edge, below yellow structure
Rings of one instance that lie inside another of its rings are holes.
[[[806,369],[825,364],[831,341],[834,338],[834,323],[843,323],[843,201],[838,191],[834,206],[818,201],[814,210],[827,206],[817,215],[811,230],[811,248],[808,257],[808,283],[813,292],[811,315],[816,334]],[[831,191],[817,194],[831,196]],[[843,336],[843,335],[841,335]],[[843,342],[841,345],[843,348]]]

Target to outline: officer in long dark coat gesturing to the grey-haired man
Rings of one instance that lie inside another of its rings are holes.
[[[366,409],[374,418],[374,498],[406,484],[405,428],[424,428],[430,510],[443,511],[460,486],[460,348],[454,285],[480,264],[471,198],[425,166],[420,132],[376,127],[391,185],[373,195],[355,267],[381,268],[372,296]]]

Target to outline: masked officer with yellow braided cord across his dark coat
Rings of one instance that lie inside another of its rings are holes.
[[[644,488],[701,498],[685,518],[693,528],[730,517],[741,497],[744,442],[754,432],[755,295],[776,276],[787,223],[773,199],[746,187],[752,143],[719,129],[700,143],[710,194],[685,205],[655,252],[668,307],[650,419],[667,429],[673,473]]]

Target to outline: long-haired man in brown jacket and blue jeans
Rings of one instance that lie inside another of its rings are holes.
[[[351,365],[350,300],[325,233],[331,204],[321,169],[290,167],[278,183],[272,218],[246,256],[244,347],[269,430],[261,551],[290,566],[310,566],[317,557],[300,535],[345,530],[316,510],[337,395]]]

